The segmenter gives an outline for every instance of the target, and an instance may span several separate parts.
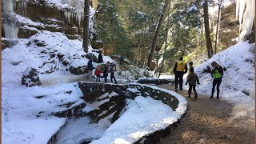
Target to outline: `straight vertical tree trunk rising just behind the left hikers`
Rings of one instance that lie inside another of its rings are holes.
[[[83,20],[83,38],[82,47],[84,52],[88,52],[89,46],[89,21],[90,21],[90,0],[85,0],[84,20]]]

